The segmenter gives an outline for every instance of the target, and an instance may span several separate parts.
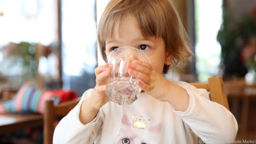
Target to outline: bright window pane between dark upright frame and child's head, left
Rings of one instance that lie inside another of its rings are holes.
[[[63,88],[80,96],[94,88],[96,0],[62,0]]]

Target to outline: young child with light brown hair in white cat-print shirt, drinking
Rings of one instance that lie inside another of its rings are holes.
[[[192,55],[184,27],[168,0],[111,0],[98,25],[103,59],[121,46],[143,51],[150,61],[128,63],[129,74],[144,91],[131,105],[108,102],[108,63],[95,69],[96,86],[57,125],[54,144],[230,143],[237,122],[204,89],[167,80],[170,65]],[[202,142],[202,141],[200,141]],[[199,142],[199,143],[200,143]]]

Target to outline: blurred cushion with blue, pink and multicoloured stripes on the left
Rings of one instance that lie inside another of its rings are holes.
[[[31,82],[26,82],[14,99],[0,103],[0,113],[43,113],[44,101],[49,99],[54,99],[54,103],[59,102],[59,98],[54,93],[47,90],[39,90]]]

